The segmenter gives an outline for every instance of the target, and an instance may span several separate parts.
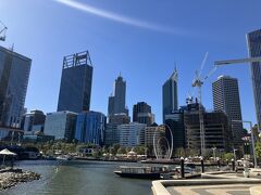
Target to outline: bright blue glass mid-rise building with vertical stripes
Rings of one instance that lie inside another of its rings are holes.
[[[75,139],[82,143],[103,145],[107,118],[99,112],[78,114]]]

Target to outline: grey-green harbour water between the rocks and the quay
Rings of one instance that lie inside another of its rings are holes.
[[[38,181],[21,183],[0,195],[147,195],[151,181],[120,178],[113,171],[129,162],[25,160],[16,167],[41,174]]]

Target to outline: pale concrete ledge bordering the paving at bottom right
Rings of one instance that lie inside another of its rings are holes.
[[[200,179],[200,180],[157,180],[152,181],[153,195],[171,195],[166,190],[169,186],[186,185],[222,185],[222,184],[261,184],[260,179],[254,178],[225,178],[225,179]],[[251,195],[261,195],[261,186],[250,187]]]

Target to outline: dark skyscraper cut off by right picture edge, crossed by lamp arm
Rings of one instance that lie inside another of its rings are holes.
[[[261,56],[261,29],[247,35],[248,52],[250,57]],[[251,64],[251,78],[256,106],[257,122],[261,127],[261,63]]]

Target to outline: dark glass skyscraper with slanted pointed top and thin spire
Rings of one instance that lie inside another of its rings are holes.
[[[165,115],[171,114],[173,110],[177,110],[177,70],[175,68],[171,78],[169,78],[162,87],[163,98],[163,122],[165,121]]]

